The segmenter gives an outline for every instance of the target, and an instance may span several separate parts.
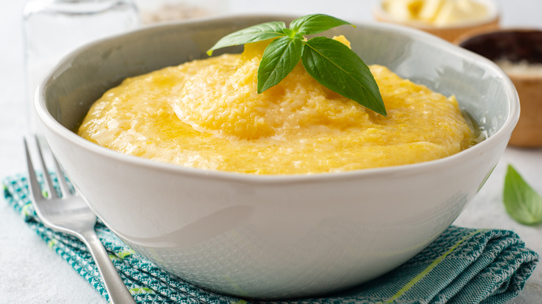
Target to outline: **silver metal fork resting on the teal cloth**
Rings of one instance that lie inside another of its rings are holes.
[[[110,303],[136,303],[126,288],[126,285],[122,282],[115,266],[113,266],[113,262],[109,259],[106,249],[96,235],[94,230],[97,221],[96,215],[90,210],[77,192],[72,193],[69,191],[63,171],[60,169],[60,164],[58,164],[56,158],[53,156],[51,158],[54,162],[54,167],[58,176],[57,179],[61,196],[57,194],[53,187],[53,183],[51,183],[51,177],[48,174],[47,166],[44,162],[40,140],[35,138],[35,142],[35,146],[37,146],[35,155],[38,155],[36,158],[41,163],[44,185],[47,194],[49,194],[47,197],[42,195],[40,183],[38,182],[32,163],[28,140],[24,138],[24,148],[28,164],[28,187],[30,188],[36,214],[38,214],[38,217],[42,220],[44,226],[59,232],[74,235],[85,243],[88,251],[90,251],[90,254],[94,258],[101,278],[104,281],[107,293],[109,294]]]

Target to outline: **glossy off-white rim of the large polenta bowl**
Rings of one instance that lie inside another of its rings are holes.
[[[514,84],[511,82],[510,78],[504,74],[504,71],[500,69],[497,65],[495,65],[494,62],[491,60],[488,60],[487,58],[484,58],[483,56],[478,55],[477,53],[473,53],[471,51],[468,51],[466,49],[463,49],[461,47],[458,47],[455,44],[452,44],[450,42],[447,42],[443,40],[440,37],[436,37],[434,35],[431,35],[429,33],[425,33],[424,31],[420,31],[416,28],[409,28],[407,26],[401,26],[397,24],[388,24],[384,22],[355,22],[354,24],[357,27],[368,27],[368,28],[379,28],[379,29],[385,29],[388,31],[395,31],[398,32],[404,36],[410,37],[413,40],[422,41],[426,44],[433,44],[438,47],[444,47],[448,49],[451,53],[454,53],[454,55],[459,56],[460,58],[470,58],[469,60],[471,62],[476,62],[478,65],[482,65],[485,69],[491,69],[493,70],[497,75],[501,76],[502,84],[504,85],[504,92],[507,92],[509,95],[508,101],[508,107],[509,112],[507,115],[506,121],[504,121],[504,124],[501,128],[495,131],[493,135],[488,136],[486,140],[483,140],[482,142],[479,142],[478,144],[475,144],[475,146],[471,146],[468,149],[465,149],[463,151],[459,151],[458,153],[455,153],[453,155],[448,155],[445,158],[440,158],[437,160],[429,160],[425,162],[417,162],[413,164],[402,164],[397,166],[391,166],[391,167],[376,167],[376,168],[368,168],[368,169],[356,169],[351,171],[338,171],[338,172],[324,172],[324,173],[317,173],[317,174],[244,174],[239,172],[233,172],[233,171],[219,171],[219,170],[213,170],[213,169],[201,169],[201,168],[192,168],[192,167],[182,167],[179,164],[170,164],[165,162],[158,162],[156,160],[150,160],[147,158],[142,158],[135,155],[127,155],[119,151],[114,151],[112,149],[108,149],[104,146],[100,146],[99,144],[95,144],[93,142],[90,142],[88,140],[85,140],[83,137],[80,137],[76,133],[74,133],[72,130],[69,130],[60,122],[58,122],[54,117],[49,113],[47,110],[47,107],[45,105],[45,98],[44,98],[44,91],[45,87],[47,87],[47,83],[49,81],[52,81],[55,78],[56,71],[58,68],[65,65],[65,63],[72,60],[72,58],[75,58],[79,55],[79,53],[85,51],[85,49],[88,49],[95,44],[100,44],[103,41],[106,40],[115,40],[118,37],[122,37],[124,35],[135,35],[142,31],[152,31],[153,28],[159,28],[159,27],[167,27],[167,26],[181,26],[182,24],[198,24],[198,23],[205,23],[208,21],[227,21],[228,19],[236,20],[238,21],[240,18],[285,18],[285,17],[292,17],[288,15],[230,15],[225,17],[211,17],[211,18],[202,18],[202,19],[194,19],[194,20],[188,20],[188,21],[178,21],[178,22],[164,22],[162,24],[155,24],[151,26],[145,26],[142,28],[138,28],[133,31],[129,31],[126,33],[118,34],[118,35],[112,35],[110,37],[101,38],[99,40],[95,40],[94,42],[90,42],[88,44],[85,44],[74,51],[70,52],[65,56],[63,59],[61,59],[58,64],[52,69],[49,74],[44,77],[41,81],[41,83],[38,85],[38,87],[35,90],[35,98],[34,98],[34,105],[35,105],[35,111],[38,114],[38,117],[46,126],[49,128],[52,132],[56,133],[56,135],[59,135],[63,138],[63,140],[67,140],[68,142],[71,142],[72,144],[75,144],[76,146],[79,146],[81,149],[85,149],[91,153],[99,154],[102,156],[105,156],[106,158],[112,158],[117,162],[127,163],[131,165],[135,165],[137,167],[146,167],[147,169],[154,169],[159,171],[166,171],[172,174],[183,174],[186,176],[193,176],[198,178],[212,178],[215,180],[233,180],[241,183],[250,183],[250,184],[284,184],[284,183],[306,183],[311,181],[330,181],[330,180],[345,180],[345,179],[352,179],[352,177],[362,177],[362,176],[411,176],[416,174],[423,174],[427,171],[433,171],[434,169],[438,168],[444,168],[449,167],[450,164],[460,163],[463,162],[463,160],[468,160],[471,156],[470,155],[479,155],[480,153],[483,153],[483,151],[486,151],[488,149],[491,149],[492,146],[498,145],[502,141],[508,141],[510,134],[514,127],[517,124],[517,121],[519,119],[519,112],[520,112],[520,103],[519,103],[519,97],[518,93],[516,91],[516,88],[514,87]],[[46,134],[47,137],[47,134]],[[503,138],[508,137],[508,138]]]

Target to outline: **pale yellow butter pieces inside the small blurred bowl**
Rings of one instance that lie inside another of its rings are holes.
[[[383,0],[382,8],[401,22],[455,26],[488,17],[486,5],[476,0]]]

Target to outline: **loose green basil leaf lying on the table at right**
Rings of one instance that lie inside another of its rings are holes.
[[[504,208],[510,217],[525,225],[542,223],[542,197],[511,165],[504,178]]]

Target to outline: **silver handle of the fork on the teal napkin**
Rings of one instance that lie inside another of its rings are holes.
[[[98,271],[101,274],[101,279],[104,281],[107,293],[109,294],[110,303],[136,303],[132,295],[124,285],[124,282],[117,273],[117,269],[113,266],[109,255],[101,244],[95,230],[85,230],[81,233],[81,238],[85,242],[88,251],[96,262]]]

